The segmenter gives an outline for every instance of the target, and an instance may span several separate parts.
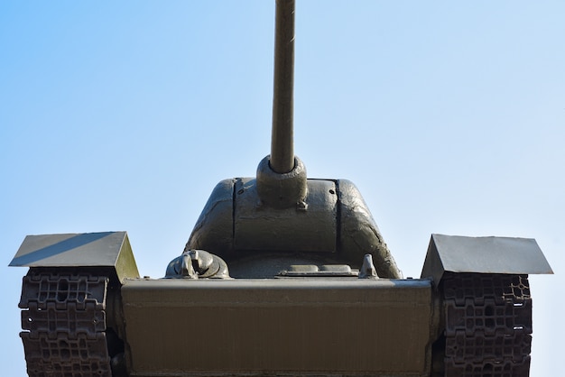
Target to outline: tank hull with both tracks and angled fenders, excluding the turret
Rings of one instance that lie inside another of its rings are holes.
[[[552,272],[533,239],[441,234],[421,279],[145,279],[125,232],[28,236],[12,265],[37,377],[526,377],[527,273]]]

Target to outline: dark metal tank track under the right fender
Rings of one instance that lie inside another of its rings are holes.
[[[527,275],[449,272],[442,284],[444,375],[527,377],[532,345]]]

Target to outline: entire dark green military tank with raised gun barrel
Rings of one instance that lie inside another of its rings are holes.
[[[294,1],[276,2],[271,154],[213,189],[162,279],[125,232],[28,235],[30,376],[527,376],[535,240],[431,234],[403,279],[353,183],[294,155]]]

